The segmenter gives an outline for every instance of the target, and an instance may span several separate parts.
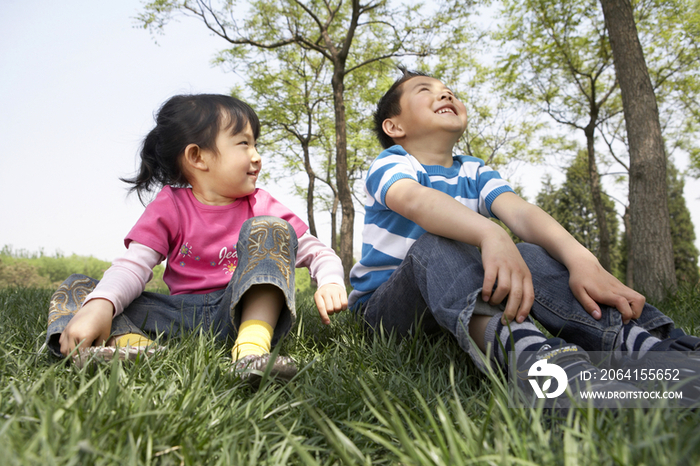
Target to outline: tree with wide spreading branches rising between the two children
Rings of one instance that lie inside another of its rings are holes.
[[[264,61],[270,52],[295,47],[318,55],[328,64],[335,129],[335,183],[342,209],[340,257],[346,280],[353,262],[355,210],[348,156],[346,79],[370,65],[383,67],[405,56],[439,54],[464,38],[468,4],[441,2],[429,16],[421,5],[392,6],[388,0],[344,2],[258,0],[245,18],[233,0],[213,6],[208,0],[157,0],[139,16],[145,27],[162,29],[173,14],[194,16],[232,47],[231,57]],[[256,58],[257,57],[257,58]]]

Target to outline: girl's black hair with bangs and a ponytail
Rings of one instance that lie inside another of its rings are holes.
[[[223,94],[176,95],[158,110],[153,128],[141,146],[141,165],[134,178],[120,178],[131,184],[141,203],[144,195],[165,185],[189,185],[182,169],[181,155],[190,144],[218,153],[216,136],[220,130],[232,134],[250,123],[255,139],[260,120],[245,102]],[[145,203],[144,203],[145,204]]]

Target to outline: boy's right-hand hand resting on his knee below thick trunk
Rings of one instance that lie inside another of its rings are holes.
[[[646,299],[623,285],[597,260],[579,262],[569,269],[569,286],[583,308],[598,320],[602,314],[598,303],[616,308],[628,323],[642,314]]]

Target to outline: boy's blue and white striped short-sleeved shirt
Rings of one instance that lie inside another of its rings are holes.
[[[403,147],[386,149],[369,167],[365,179],[365,226],[362,258],[350,271],[353,291],[350,307],[367,301],[389,279],[413,243],[425,230],[386,206],[386,192],[396,181],[408,178],[449,194],[485,217],[493,217],[491,203],[504,192],[513,192],[497,171],[475,157],[455,156],[450,168],[421,165]]]

